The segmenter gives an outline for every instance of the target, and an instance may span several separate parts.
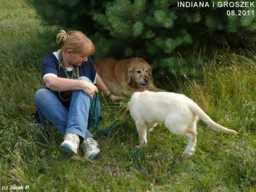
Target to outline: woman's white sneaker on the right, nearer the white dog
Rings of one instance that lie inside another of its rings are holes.
[[[97,147],[98,145],[98,142],[92,137],[84,139],[81,144],[84,156],[86,156],[88,159],[95,158],[100,152],[99,148]]]

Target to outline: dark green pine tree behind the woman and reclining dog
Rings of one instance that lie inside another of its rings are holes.
[[[30,1],[50,24],[86,33],[96,46],[95,59],[142,57],[152,65],[155,77],[200,71],[183,58],[186,52],[223,42],[256,42],[255,8],[212,7],[219,0],[207,1],[209,8],[178,8],[178,0]],[[231,10],[250,15],[228,16]]]

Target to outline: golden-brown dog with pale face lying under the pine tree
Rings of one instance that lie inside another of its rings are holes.
[[[94,64],[106,87],[115,92],[163,91],[154,86],[152,67],[142,58],[104,59]]]

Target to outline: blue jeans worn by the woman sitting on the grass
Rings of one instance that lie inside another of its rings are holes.
[[[81,76],[77,80],[87,80],[89,78]],[[100,118],[100,103],[95,105],[95,98],[92,99],[93,106],[98,109],[95,118]],[[73,91],[69,110],[63,106],[57,96],[47,89],[39,89],[35,93],[35,104],[42,124],[46,120],[55,125],[58,131],[65,136],[67,133],[75,133],[87,139],[93,135],[88,131],[92,126],[91,118],[89,117],[90,97],[81,90]],[[82,139],[82,140],[83,140]],[[81,140],[81,141],[82,141]]]

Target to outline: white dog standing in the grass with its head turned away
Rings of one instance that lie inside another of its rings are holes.
[[[124,112],[125,119],[135,121],[140,146],[146,144],[146,134],[157,125],[164,123],[176,135],[186,136],[188,144],[183,155],[195,153],[197,142],[197,121],[202,119],[212,128],[225,133],[237,134],[212,121],[208,115],[191,99],[182,94],[168,92],[135,92]]]

